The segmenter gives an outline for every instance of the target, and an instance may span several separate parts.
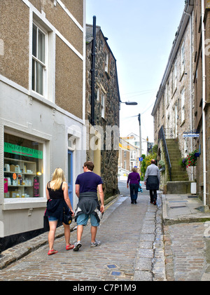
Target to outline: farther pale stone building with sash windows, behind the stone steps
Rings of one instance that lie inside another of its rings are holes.
[[[193,85],[190,83],[193,73],[192,18],[193,6],[186,4],[152,113],[155,144],[158,144],[158,133],[163,126],[165,137],[176,138],[179,142],[182,157],[195,146],[190,138],[183,138],[183,132],[192,131],[194,126]],[[193,177],[190,170],[188,175]]]

